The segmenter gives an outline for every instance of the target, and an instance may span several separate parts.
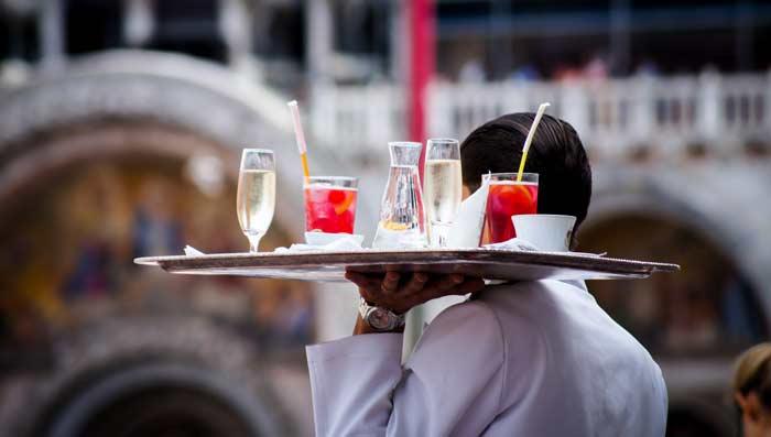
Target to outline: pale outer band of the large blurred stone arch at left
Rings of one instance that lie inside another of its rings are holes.
[[[73,127],[110,121],[173,127],[209,140],[220,145],[225,155],[231,155],[229,168],[234,162],[237,168],[241,148],[273,149],[279,178],[301,181],[284,101],[225,67],[184,55],[116,51],[86,56],[61,75],[39,77],[2,96],[0,185],[18,176],[20,170],[13,166],[17,159],[30,153],[36,141]],[[334,168],[334,153],[318,153],[313,159],[322,171]],[[302,217],[302,203],[281,201],[300,198],[301,184],[279,184],[278,189],[276,218],[284,218],[282,225],[301,234],[303,223],[296,218]]]

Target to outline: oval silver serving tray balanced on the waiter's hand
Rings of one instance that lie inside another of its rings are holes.
[[[134,262],[180,274],[333,282],[345,281],[346,269],[366,273],[461,273],[502,281],[642,278],[680,270],[676,264],[584,253],[491,249],[213,253],[138,258]]]

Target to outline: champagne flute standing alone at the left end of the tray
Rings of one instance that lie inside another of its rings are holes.
[[[275,160],[273,151],[245,149],[238,175],[236,210],[249,250],[258,252],[260,240],[273,220],[275,209]]]

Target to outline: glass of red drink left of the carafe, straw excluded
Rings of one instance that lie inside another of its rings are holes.
[[[312,176],[305,196],[305,230],[354,233],[358,179],[343,176]]]

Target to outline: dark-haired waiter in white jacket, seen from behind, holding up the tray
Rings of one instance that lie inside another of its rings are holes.
[[[515,168],[533,121],[514,113],[460,146],[464,192]],[[526,172],[539,212],[586,218],[591,170],[575,130],[545,116]],[[663,436],[666,387],[648,351],[586,286],[535,281],[485,286],[460,275],[349,272],[361,305],[354,336],[307,348],[318,436]],[[448,294],[401,364],[404,313]]]

